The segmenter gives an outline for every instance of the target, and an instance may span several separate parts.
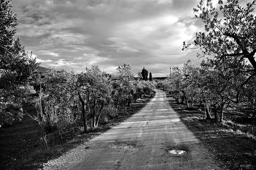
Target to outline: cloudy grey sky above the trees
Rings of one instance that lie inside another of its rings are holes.
[[[170,66],[191,59],[182,51],[203,31],[192,9],[199,0],[12,0],[26,51],[41,66],[77,72],[99,65],[116,74],[123,63],[137,75],[145,67],[153,77],[166,76]]]

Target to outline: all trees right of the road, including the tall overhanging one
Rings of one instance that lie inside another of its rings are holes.
[[[200,67],[191,61],[182,68],[173,67],[172,80],[163,85],[177,102],[181,98],[186,107],[193,107],[194,102],[204,104],[207,119],[212,111],[215,119],[219,116],[222,121],[230,102],[246,102],[256,109],[256,1],[247,3],[246,8],[238,0],[225,4],[219,0],[218,5],[217,10],[212,0],[200,0],[194,12],[205,24],[205,31],[196,33],[195,46],[183,43],[182,50],[201,50],[197,55],[204,58]]]

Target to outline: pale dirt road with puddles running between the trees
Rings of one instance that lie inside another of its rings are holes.
[[[124,123],[44,167],[45,170],[220,169],[180,121],[162,90],[156,90],[154,98]]]

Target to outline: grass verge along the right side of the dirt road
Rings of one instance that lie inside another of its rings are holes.
[[[256,123],[248,118],[249,113],[239,107],[234,107],[234,110],[229,108],[224,113],[224,121],[220,123],[206,120],[202,111],[186,110],[185,106],[167,97],[186,127],[214,155],[220,167],[232,170],[256,169]]]

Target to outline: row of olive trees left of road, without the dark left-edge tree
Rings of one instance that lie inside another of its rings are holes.
[[[38,115],[33,118],[48,132],[81,122],[85,132],[90,128],[88,122],[98,127],[102,114],[126,111],[132,102],[153,93],[154,83],[135,80],[131,69],[124,63],[116,75],[109,75],[98,66],[80,74],[48,68],[42,78],[44,91],[36,100]]]

